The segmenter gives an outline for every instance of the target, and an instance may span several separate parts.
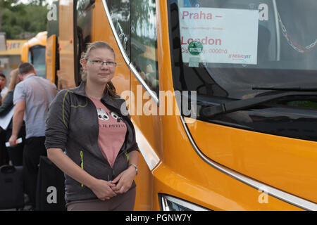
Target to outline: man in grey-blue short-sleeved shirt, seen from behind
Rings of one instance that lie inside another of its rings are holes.
[[[15,86],[13,94],[15,108],[9,143],[11,147],[16,145],[24,118],[26,136],[23,150],[23,180],[25,192],[30,197],[32,207],[35,208],[39,158],[41,155],[47,155],[44,146],[47,109],[55,98],[57,89],[48,79],[37,77],[31,63],[21,63],[18,72],[22,82]]]

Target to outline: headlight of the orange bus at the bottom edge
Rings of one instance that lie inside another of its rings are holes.
[[[209,209],[170,195],[159,194],[159,200],[162,211],[210,211]]]

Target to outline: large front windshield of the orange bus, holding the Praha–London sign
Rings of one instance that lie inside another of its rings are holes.
[[[201,113],[206,105],[317,90],[316,11],[314,0],[170,0],[175,90],[197,91],[199,120],[316,141],[316,94]]]

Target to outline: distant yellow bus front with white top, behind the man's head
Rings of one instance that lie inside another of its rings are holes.
[[[45,50],[47,32],[39,32],[22,46],[21,61],[32,63],[37,75],[46,78]]]

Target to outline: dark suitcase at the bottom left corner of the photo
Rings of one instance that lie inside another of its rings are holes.
[[[22,167],[0,167],[0,210],[24,206]]]

